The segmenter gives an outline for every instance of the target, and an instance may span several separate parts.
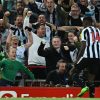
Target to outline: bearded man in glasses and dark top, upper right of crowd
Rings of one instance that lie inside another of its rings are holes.
[[[80,8],[76,3],[71,6],[71,11],[68,16],[68,25],[70,26],[82,26],[82,20],[80,16]]]

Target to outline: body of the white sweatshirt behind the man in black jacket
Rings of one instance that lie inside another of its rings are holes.
[[[28,53],[28,65],[46,65],[45,58],[38,55],[38,48],[42,41],[45,41],[44,38],[38,37],[36,34],[32,34],[33,44],[29,47]]]

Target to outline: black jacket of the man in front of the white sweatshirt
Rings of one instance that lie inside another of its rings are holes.
[[[66,60],[64,48],[61,48],[60,53],[56,51],[55,48],[48,47],[44,49],[44,44],[41,44],[38,48],[38,55],[45,57],[46,60],[46,66],[47,66],[47,73],[56,69],[56,64],[58,60],[64,59]]]

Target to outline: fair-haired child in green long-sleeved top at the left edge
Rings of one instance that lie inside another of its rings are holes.
[[[0,86],[12,86],[18,71],[24,71],[32,80],[34,75],[22,63],[16,61],[16,48],[9,47],[8,59],[0,62]]]

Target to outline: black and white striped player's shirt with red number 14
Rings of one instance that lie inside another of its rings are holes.
[[[81,41],[86,41],[83,58],[100,58],[100,30],[93,26],[82,30]]]

